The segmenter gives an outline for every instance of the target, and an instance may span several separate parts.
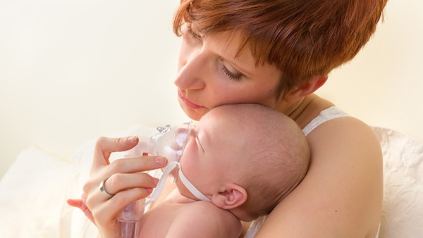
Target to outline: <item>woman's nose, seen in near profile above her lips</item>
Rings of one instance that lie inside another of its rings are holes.
[[[207,59],[197,52],[195,56],[182,61],[175,84],[179,89],[203,89],[207,77]]]

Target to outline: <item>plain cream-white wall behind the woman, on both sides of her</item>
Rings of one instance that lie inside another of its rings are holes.
[[[133,125],[181,123],[178,0],[0,0],[0,176],[35,145],[61,158]],[[388,1],[384,23],[318,94],[369,125],[423,142],[419,0]]]

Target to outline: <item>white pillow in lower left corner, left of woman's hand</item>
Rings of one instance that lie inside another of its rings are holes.
[[[1,237],[69,237],[69,188],[78,176],[68,161],[30,147],[0,181]]]

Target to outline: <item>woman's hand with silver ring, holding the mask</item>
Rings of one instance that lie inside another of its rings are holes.
[[[82,200],[68,201],[71,206],[80,208],[92,220],[103,238],[116,237],[119,213],[129,203],[151,194],[159,182],[157,178],[140,172],[166,165],[166,158],[157,156],[122,158],[109,162],[111,153],[127,151],[137,143],[137,137],[99,138],[94,148],[90,179],[83,188]],[[106,192],[114,195],[111,198],[100,192],[99,184],[102,181]]]

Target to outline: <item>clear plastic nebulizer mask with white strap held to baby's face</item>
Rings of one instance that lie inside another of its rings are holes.
[[[139,221],[144,213],[144,207],[152,201],[156,201],[164,187],[164,182],[171,171],[178,167],[178,177],[185,187],[203,201],[210,201],[198,189],[192,185],[180,170],[180,157],[183,154],[185,145],[190,138],[192,123],[183,123],[175,127],[166,125],[157,127],[157,134],[152,137],[139,137],[140,142],[135,148],[128,151],[125,157],[134,157],[144,154],[146,151],[152,156],[163,156],[167,158],[168,164],[163,170],[157,187],[149,196],[148,201],[141,199],[125,206],[121,214],[118,216],[118,228],[116,230],[117,237],[137,238],[139,230]],[[148,145],[148,146],[146,146]]]

